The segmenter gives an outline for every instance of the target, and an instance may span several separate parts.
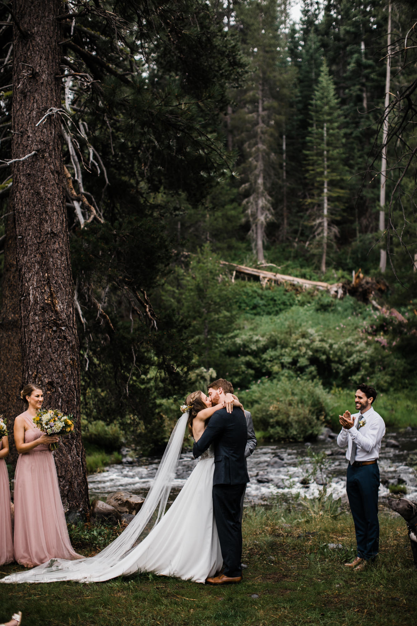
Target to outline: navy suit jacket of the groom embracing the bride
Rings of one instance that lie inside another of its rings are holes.
[[[232,413],[219,409],[210,418],[205,431],[193,446],[197,458],[214,444],[213,485],[242,485],[249,483],[245,463],[247,443],[246,418],[242,409]]]

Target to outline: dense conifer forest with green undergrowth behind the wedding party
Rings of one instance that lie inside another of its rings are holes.
[[[9,425],[29,380],[75,416],[60,479],[81,432],[162,450],[215,377],[259,441],[336,428],[367,381],[413,426],[413,0],[41,4],[0,3]]]

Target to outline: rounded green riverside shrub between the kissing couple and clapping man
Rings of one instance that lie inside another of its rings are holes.
[[[260,379],[240,391],[239,399],[270,441],[314,438],[332,411],[331,396],[319,382],[296,377]]]

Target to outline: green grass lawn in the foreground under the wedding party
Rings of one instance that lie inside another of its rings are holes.
[[[306,518],[275,506],[246,510],[244,582],[210,587],[141,573],[106,583],[0,585],[0,619],[23,626],[334,626],[413,623],[417,572],[402,518],[381,511],[378,564],[343,567],[355,556],[352,518]],[[330,550],[328,543],[341,543]],[[77,549],[78,546],[77,546]],[[84,553],[92,553],[85,546]],[[1,573],[16,571],[3,566]]]

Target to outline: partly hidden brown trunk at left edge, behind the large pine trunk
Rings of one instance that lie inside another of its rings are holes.
[[[6,459],[16,466],[18,452],[14,447],[13,424],[16,415],[23,411],[20,398],[22,388],[22,349],[20,342],[20,312],[17,290],[16,230],[14,228],[13,191],[6,218],[6,242],[4,244],[3,288],[0,313],[0,389],[2,390],[1,413],[8,424],[10,453]]]

